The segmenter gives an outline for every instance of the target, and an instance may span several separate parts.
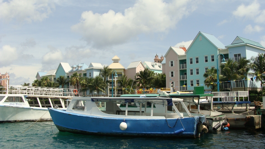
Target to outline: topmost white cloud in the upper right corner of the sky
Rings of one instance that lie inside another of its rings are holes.
[[[248,6],[241,4],[237,7],[236,11],[233,11],[233,15],[236,17],[246,17],[251,19],[260,13],[259,6],[260,4],[257,1],[254,1]]]

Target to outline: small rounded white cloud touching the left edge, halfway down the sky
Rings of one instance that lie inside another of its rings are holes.
[[[1,58],[0,58],[0,64],[1,66],[7,66],[13,63],[17,57],[17,50],[15,47],[11,47],[10,45],[4,45],[0,49]]]

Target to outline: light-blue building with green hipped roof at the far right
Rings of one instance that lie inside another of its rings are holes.
[[[265,48],[260,45],[260,43],[248,40],[242,37],[236,37],[235,40],[231,43],[231,45],[226,46],[229,51],[229,58],[234,61],[239,61],[241,58],[250,59],[252,56],[257,56],[259,53],[264,53]],[[258,89],[260,88],[260,81],[251,81],[250,76],[247,76],[249,80],[244,80],[245,87],[248,89]],[[235,81],[231,85],[233,88],[237,88],[237,90],[244,91],[244,84],[242,80]],[[224,85],[230,88],[229,84]]]

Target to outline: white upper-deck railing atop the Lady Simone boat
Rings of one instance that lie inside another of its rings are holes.
[[[1,88],[1,87],[0,87]],[[79,96],[77,89],[62,89],[52,87],[37,87],[37,86],[9,86],[8,93],[5,90],[0,91],[0,94],[25,94],[25,95],[48,95],[48,96]]]

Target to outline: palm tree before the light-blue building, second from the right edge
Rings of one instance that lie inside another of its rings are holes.
[[[253,73],[250,73],[250,69],[251,69],[251,60],[250,59],[246,59],[245,57],[242,57],[241,59],[239,59],[238,61],[238,78],[239,79],[244,79],[247,78],[247,76],[253,76]],[[244,86],[244,91],[245,90],[245,81],[243,80],[243,86]]]

